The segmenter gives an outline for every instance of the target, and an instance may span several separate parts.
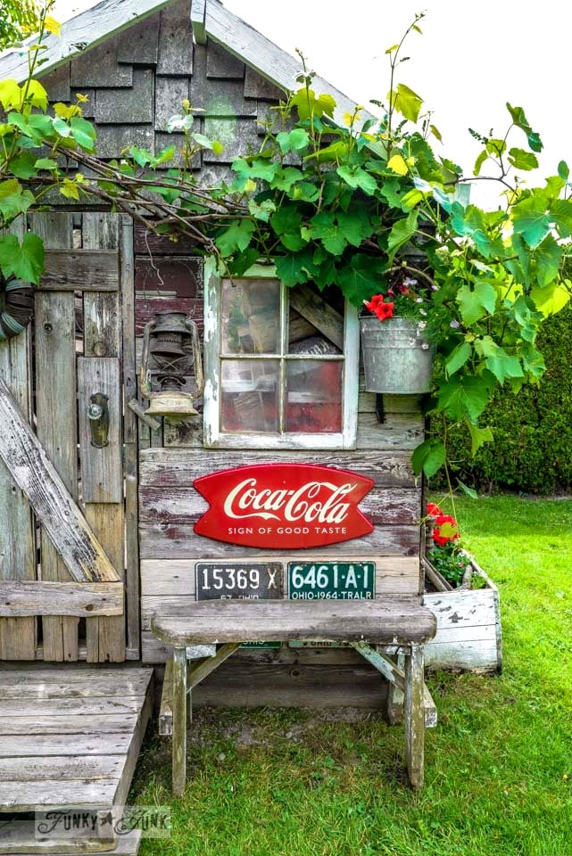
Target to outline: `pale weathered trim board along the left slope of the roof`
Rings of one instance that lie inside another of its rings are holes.
[[[153,12],[158,12],[170,0],[103,0],[62,23],[61,34],[46,33],[44,44],[46,51],[43,58],[46,63],[42,73],[55,69],[87,47],[98,45],[100,42],[111,40],[110,37],[131,27],[136,21],[142,21]],[[33,44],[33,38],[29,39]],[[2,62],[2,76],[16,78],[20,82],[28,76],[28,54],[25,52],[9,53]],[[104,64],[104,69],[109,63]],[[97,70],[97,68],[94,69]],[[113,80],[112,80],[113,82]],[[118,83],[117,78],[114,81]],[[124,85],[124,84],[123,84]]]

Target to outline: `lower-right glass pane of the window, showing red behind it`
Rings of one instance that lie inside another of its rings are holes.
[[[288,360],[286,363],[286,431],[342,431],[342,362]]]

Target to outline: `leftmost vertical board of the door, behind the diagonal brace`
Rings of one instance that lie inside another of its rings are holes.
[[[24,228],[24,219],[19,218],[11,231],[21,239]],[[8,342],[0,342],[0,378],[12,391],[28,421],[31,397],[30,342],[29,328]],[[37,560],[33,515],[28,499],[14,484],[2,460],[0,508],[0,580],[35,580]],[[36,635],[37,622],[33,618],[0,619],[0,660],[33,660]]]

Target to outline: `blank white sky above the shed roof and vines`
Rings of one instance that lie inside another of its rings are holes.
[[[570,33],[572,4],[562,0],[223,0],[277,45],[302,49],[311,68],[358,103],[384,100],[385,48],[398,42],[415,12],[426,12],[423,35],[412,33],[398,80],[421,95],[444,137],[436,151],[468,172],[477,143],[468,127],[503,136],[505,103],[525,108],[544,143],[541,177],[558,162],[572,166]],[[71,17],[89,0],[58,0],[55,16]],[[525,146],[521,132],[514,145]],[[484,189],[485,183],[479,187]],[[476,200],[481,197],[474,195]]]

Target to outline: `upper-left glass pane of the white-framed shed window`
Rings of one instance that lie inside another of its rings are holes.
[[[276,279],[222,281],[221,352],[276,354],[280,343],[280,284]]]

